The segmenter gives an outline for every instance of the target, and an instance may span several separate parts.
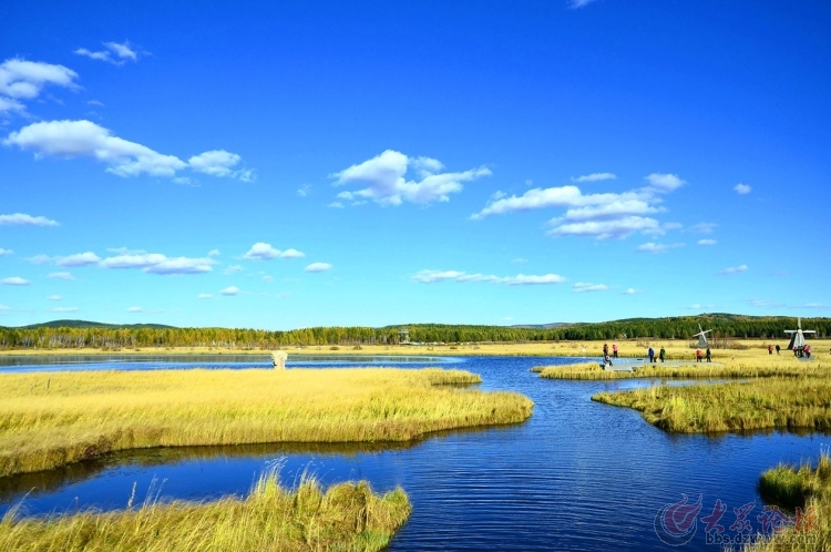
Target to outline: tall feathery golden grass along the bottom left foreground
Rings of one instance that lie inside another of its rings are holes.
[[[410,511],[401,489],[379,497],[359,482],[324,492],[317,482],[306,480],[291,492],[269,473],[245,499],[150,500],[124,511],[23,520],[11,512],[0,521],[0,550],[381,550]]]

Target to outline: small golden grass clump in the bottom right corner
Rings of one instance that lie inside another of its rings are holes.
[[[746,552],[821,552],[831,550],[831,458],[820,456],[815,468],[778,466],[759,481],[760,492],[786,507],[801,510],[793,524],[770,539],[746,545]]]

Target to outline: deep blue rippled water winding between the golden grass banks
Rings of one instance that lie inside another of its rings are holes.
[[[229,366],[227,358],[216,358],[216,366]],[[438,364],[407,360],[401,366]],[[759,474],[780,461],[815,460],[830,440],[815,433],[670,436],[638,412],[589,400],[599,390],[645,381],[555,381],[529,371],[574,359],[443,360],[444,367],[480,374],[482,389],[527,395],[535,402],[534,415],[516,426],[445,432],[407,444],[201,447],[117,454],[54,472],[0,478],[0,514],[24,495],[30,514],[124,508],[134,483],[138,499],[148,493],[163,499],[244,495],[260,472],[278,464],[287,484],[312,473],[326,483],[368,479],[380,491],[403,487],[413,512],[390,550],[667,550],[656,535],[655,518],[666,504],[679,502],[681,493],[690,502],[701,497],[699,519],[720,499],[728,507],[720,520],[727,535],[737,534],[730,529],[733,508],[755,502],[747,521],[758,531],[763,508],[756,491]],[[171,366],[170,357],[146,362],[145,369],[162,367],[152,362]],[[350,364],[345,357],[336,366]],[[706,542],[700,521],[680,549],[720,550]]]

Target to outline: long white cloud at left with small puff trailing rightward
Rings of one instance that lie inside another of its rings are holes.
[[[3,140],[8,146],[17,145],[33,151],[35,157],[93,157],[107,165],[106,171],[117,176],[174,177],[177,171],[191,167],[213,176],[232,176],[252,180],[252,171],[232,171],[239,155],[225,151],[205,152],[185,163],[175,155],[165,155],[150,147],[130,142],[91,121],[44,121],[32,123]]]

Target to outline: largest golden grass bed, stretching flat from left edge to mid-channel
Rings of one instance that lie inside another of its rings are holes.
[[[444,386],[479,380],[435,368],[4,374],[0,477],[135,448],[407,441],[531,416],[522,395]]]

